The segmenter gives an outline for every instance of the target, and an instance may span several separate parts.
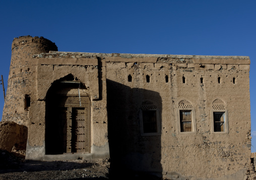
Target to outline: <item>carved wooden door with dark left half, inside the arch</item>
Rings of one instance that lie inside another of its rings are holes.
[[[88,153],[91,150],[90,100],[55,96],[48,108],[47,154]]]

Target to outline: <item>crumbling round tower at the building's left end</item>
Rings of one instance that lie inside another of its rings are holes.
[[[32,56],[49,51],[57,51],[57,47],[43,37],[22,36],[13,40],[2,121],[28,126],[30,103],[36,98],[37,66]]]

